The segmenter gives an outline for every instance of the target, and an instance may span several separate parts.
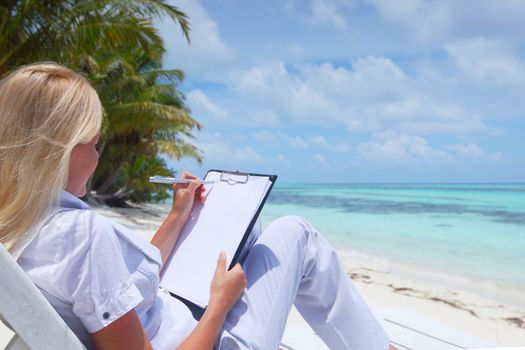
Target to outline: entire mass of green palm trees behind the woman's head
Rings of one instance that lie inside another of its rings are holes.
[[[165,48],[152,21],[166,15],[189,42],[187,16],[165,0],[0,2],[0,76],[53,60],[81,71],[97,89],[105,123],[92,185],[118,204],[166,195],[165,187],[146,181],[173,174],[160,153],[201,159],[186,141],[201,125],[177,90],[184,74],[161,69]]]

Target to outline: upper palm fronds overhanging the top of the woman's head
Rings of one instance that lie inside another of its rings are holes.
[[[122,44],[163,51],[151,20],[165,15],[179,23],[189,42],[186,14],[164,0],[2,0],[0,76],[40,60],[77,68],[85,54]]]

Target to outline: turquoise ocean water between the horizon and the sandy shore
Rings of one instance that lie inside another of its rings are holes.
[[[525,291],[525,184],[279,184],[263,225],[306,217],[339,250]]]

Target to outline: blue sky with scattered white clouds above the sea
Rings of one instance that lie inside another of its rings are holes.
[[[525,182],[525,0],[171,0],[204,157],[305,182]]]

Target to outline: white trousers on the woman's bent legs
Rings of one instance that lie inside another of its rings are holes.
[[[242,265],[248,285],[228,314],[217,349],[277,349],[292,304],[330,349],[388,348],[388,336],[336,252],[306,220],[272,222]]]

